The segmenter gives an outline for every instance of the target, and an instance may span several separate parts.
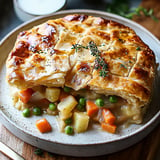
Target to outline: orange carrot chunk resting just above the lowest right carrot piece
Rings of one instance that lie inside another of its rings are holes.
[[[112,112],[109,109],[103,109],[102,115],[105,123],[113,124],[116,120],[116,117],[112,114]]]

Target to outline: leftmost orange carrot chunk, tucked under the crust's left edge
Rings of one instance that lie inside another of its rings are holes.
[[[27,88],[25,90],[21,90],[19,92],[19,98],[23,103],[27,103],[31,98],[32,94],[34,93],[33,89]]]

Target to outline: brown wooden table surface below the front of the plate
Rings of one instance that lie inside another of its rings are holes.
[[[35,147],[23,142],[11,134],[2,124],[0,124],[0,141],[8,145],[26,160],[81,160],[69,156],[48,154],[44,152],[43,156],[37,156]],[[158,160],[157,151],[160,148],[160,125],[158,125],[147,137],[139,143],[114,154],[100,157],[83,158],[83,160]],[[159,157],[160,158],[160,157]],[[8,157],[0,153],[0,160],[9,160]]]

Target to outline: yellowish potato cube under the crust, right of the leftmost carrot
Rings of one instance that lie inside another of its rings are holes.
[[[45,97],[51,101],[56,102],[59,99],[60,89],[59,88],[46,88]]]

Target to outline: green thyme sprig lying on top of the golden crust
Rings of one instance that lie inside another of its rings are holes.
[[[80,48],[90,50],[91,55],[96,57],[94,69],[99,70],[99,75],[101,77],[106,77],[107,73],[109,72],[108,65],[106,64],[104,58],[101,57],[101,52],[98,50],[97,45],[93,41],[90,41],[88,46],[83,46],[81,44],[73,44],[71,49],[75,49],[77,52]]]

